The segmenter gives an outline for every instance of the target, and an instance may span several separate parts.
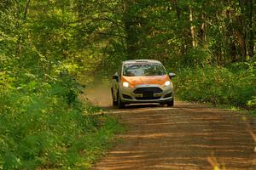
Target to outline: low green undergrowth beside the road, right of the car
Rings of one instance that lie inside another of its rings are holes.
[[[256,62],[180,69],[177,75],[180,99],[256,109]]]

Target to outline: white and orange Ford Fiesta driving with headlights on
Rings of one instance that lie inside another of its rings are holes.
[[[113,75],[113,105],[119,108],[129,104],[159,103],[173,106],[172,77],[158,60],[127,60]]]

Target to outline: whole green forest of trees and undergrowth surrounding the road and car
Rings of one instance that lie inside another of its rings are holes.
[[[86,169],[122,131],[79,100],[126,59],[179,99],[256,108],[253,0],[1,0],[0,169]]]

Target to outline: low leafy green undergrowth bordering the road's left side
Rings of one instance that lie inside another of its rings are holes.
[[[0,169],[90,167],[113,143],[117,120],[81,103],[69,76],[26,81],[0,91]]]

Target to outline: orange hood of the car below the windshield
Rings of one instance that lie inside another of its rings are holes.
[[[146,76],[146,77],[125,77],[122,78],[123,82],[129,82],[131,86],[137,86],[141,84],[159,84],[163,85],[166,81],[170,81],[167,75],[163,76]]]

